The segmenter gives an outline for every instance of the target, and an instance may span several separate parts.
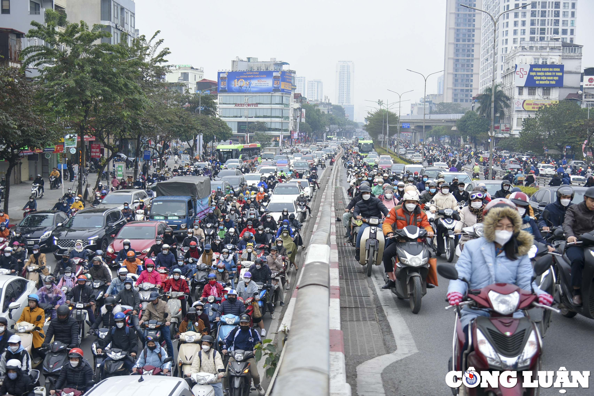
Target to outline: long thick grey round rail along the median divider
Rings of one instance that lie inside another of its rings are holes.
[[[330,174],[318,227],[309,240],[289,337],[272,396],[330,393],[330,223],[334,175],[338,168],[334,166]]]

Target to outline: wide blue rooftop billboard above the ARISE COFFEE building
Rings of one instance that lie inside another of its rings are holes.
[[[220,71],[219,93],[291,93],[291,74],[285,71]]]

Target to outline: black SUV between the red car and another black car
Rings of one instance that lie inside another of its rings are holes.
[[[64,251],[74,249],[78,239],[83,241],[84,249],[106,252],[112,235],[126,223],[118,208],[83,209],[53,231],[53,255],[59,259]]]

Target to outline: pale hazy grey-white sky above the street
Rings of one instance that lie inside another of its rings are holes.
[[[578,11],[582,66],[594,66],[594,0],[579,0]],[[426,75],[444,64],[445,0],[136,0],[136,27],[146,36],[161,30],[170,63],[203,67],[210,80],[236,56],[276,58],[297,75],[321,79],[330,101],[336,62],[354,61],[355,121],[361,122],[365,106],[374,106],[366,99],[398,100],[387,89],[415,90],[402,97],[406,114],[424,88],[422,77],[406,69]],[[438,75],[429,77],[427,93],[437,93]]]

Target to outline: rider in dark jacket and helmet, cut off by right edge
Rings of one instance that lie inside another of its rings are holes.
[[[565,212],[563,232],[567,242],[577,242],[577,237],[592,231],[594,224],[594,187],[584,193],[584,200],[571,205]],[[565,255],[571,261],[571,285],[573,286],[573,303],[582,305],[582,271],[584,268],[584,249],[581,246],[567,246]]]

